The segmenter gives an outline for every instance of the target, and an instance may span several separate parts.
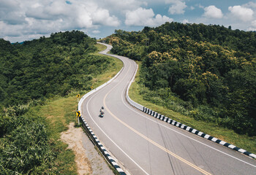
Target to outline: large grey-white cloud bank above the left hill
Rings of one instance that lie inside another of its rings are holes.
[[[120,24],[118,18],[114,15],[111,16],[108,9],[103,9],[92,1],[87,1],[86,4],[79,1],[67,4],[57,0],[48,6],[37,5],[35,8],[29,8],[26,15],[38,20],[67,19],[66,23],[76,21],[76,26],[79,28],[93,28],[97,25],[118,26]]]

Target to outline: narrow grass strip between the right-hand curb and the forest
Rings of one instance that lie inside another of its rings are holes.
[[[138,62],[139,69],[141,63]],[[174,112],[173,110],[166,109],[163,106],[158,106],[157,104],[152,104],[149,101],[143,100],[143,96],[140,95],[140,86],[138,85],[140,70],[138,70],[135,82],[132,83],[131,88],[129,89],[129,97],[136,101],[138,104],[146,106],[149,109],[158,112],[159,114],[163,114],[166,117],[170,117],[173,120],[176,120],[185,125],[189,125],[192,128],[197,129],[198,131],[202,131],[203,133],[207,133],[211,136],[214,136],[218,139],[226,141],[230,144],[236,145],[236,147],[241,147],[246,149],[249,152],[256,153],[256,137],[249,137],[246,135],[239,135],[235,133],[233,130],[219,127],[215,123],[206,123],[203,121],[197,121],[192,117],[185,116],[178,112]]]

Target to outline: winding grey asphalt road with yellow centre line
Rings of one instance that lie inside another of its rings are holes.
[[[256,174],[256,160],[130,106],[125,92],[136,63],[114,56],[124,62],[121,74],[86,98],[81,111],[130,174]],[[105,106],[104,117],[99,117],[101,106]]]

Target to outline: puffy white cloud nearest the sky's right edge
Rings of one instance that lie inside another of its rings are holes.
[[[253,10],[247,7],[241,7],[241,6],[233,6],[233,7],[228,7],[228,10],[231,12],[231,14],[246,22],[246,21],[250,21],[253,19]]]

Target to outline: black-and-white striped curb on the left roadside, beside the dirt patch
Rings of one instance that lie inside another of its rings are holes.
[[[116,171],[118,171],[119,174],[121,175],[125,175],[124,171],[122,168],[120,168],[120,166],[118,166],[118,164],[116,163],[115,160],[113,160],[113,158],[110,156],[110,154],[108,153],[108,151],[105,149],[105,147],[103,147],[103,145],[100,143],[99,139],[97,138],[97,136],[95,136],[94,132],[91,130],[91,128],[89,127],[88,123],[86,123],[86,120],[84,120],[83,117],[80,117],[80,119],[83,121],[82,125],[83,128],[85,128],[86,133],[88,133],[90,135],[90,138],[94,141],[94,144],[96,144],[96,146],[99,148],[99,150],[102,152],[102,155],[104,155],[104,157],[108,160],[108,162],[116,169]]]

